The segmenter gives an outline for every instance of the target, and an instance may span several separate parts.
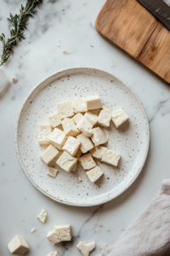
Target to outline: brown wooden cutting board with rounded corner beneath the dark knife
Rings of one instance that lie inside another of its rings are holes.
[[[107,0],[95,23],[101,36],[170,83],[170,32],[136,0]]]

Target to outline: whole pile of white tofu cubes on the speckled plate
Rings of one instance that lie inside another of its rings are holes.
[[[108,128],[111,120],[116,128],[127,121],[124,110],[116,113],[102,106],[99,96],[75,98],[57,104],[58,111],[49,116],[49,125],[38,125],[37,138],[40,145],[48,145],[41,154],[48,166],[48,175],[56,177],[56,163],[66,172],[75,172],[79,161],[88,178],[95,183],[104,172],[94,158],[111,166],[117,166],[121,154],[102,146],[108,142],[102,127]],[[62,154],[60,154],[62,151]]]

